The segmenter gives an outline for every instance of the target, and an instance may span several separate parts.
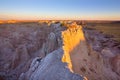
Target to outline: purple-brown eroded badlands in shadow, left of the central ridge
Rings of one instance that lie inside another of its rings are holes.
[[[48,26],[37,23],[0,25],[0,76],[16,80],[33,58],[44,57],[41,48],[50,32]]]

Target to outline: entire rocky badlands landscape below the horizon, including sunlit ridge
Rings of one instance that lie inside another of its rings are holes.
[[[0,80],[120,80],[119,31],[119,22],[1,21]]]

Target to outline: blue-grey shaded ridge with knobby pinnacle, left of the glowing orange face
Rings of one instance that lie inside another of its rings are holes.
[[[70,70],[69,61],[62,62],[65,51],[62,47],[63,35],[61,33],[66,28],[59,24],[52,23],[50,25],[52,32],[48,35],[44,48],[42,48],[47,53],[46,57],[43,59],[35,58],[29,70],[22,73],[19,80],[83,80],[83,77]]]

